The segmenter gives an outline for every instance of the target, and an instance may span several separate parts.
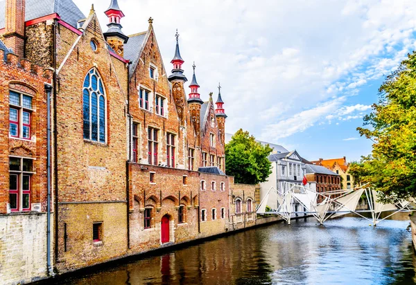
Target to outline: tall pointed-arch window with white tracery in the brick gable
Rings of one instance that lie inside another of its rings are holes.
[[[105,93],[96,68],[85,76],[83,85],[84,138],[105,143]]]

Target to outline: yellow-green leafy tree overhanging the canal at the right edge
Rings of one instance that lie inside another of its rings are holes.
[[[416,196],[416,54],[401,62],[379,89],[379,103],[357,130],[372,140],[372,154],[355,167],[358,181],[384,201]]]

